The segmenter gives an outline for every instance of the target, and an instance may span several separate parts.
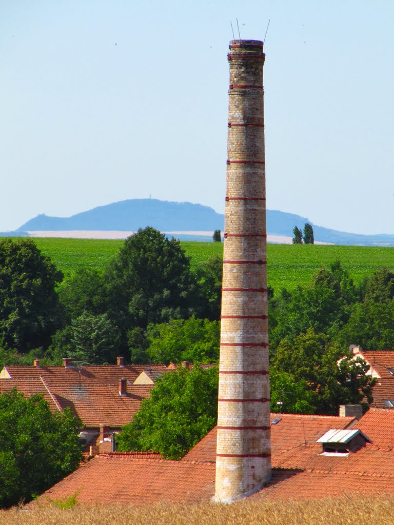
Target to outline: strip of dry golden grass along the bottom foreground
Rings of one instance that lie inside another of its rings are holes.
[[[57,505],[61,502],[57,502]],[[394,497],[299,501],[240,501],[233,505],[204,503],[13,508],[0,511],[0,524],[20,525],[371,525],[394,523]]]

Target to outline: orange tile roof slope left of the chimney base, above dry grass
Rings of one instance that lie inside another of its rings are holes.
[[[101,455],[44,492],[39,503],[75,492],[80,503],[196,502],[212,496],[214,480],[211,463]]]

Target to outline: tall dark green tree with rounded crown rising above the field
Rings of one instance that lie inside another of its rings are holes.
[[[177,239],[148,226],[128,237],[105,273],[109,317],[126,334],[195,313],[196,283]]]

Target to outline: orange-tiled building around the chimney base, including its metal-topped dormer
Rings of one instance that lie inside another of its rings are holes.
[[[271,414],[272,479],[250,497],[393,494],[393,431],[394,411],[388,409],[370,408],[361,419]],[[76,492],[85,503],[208,501],[214,493],[215,456],[216,428],[180,461],[100,454],[47,490],[38,503]]]

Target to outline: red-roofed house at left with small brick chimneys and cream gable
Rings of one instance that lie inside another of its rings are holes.
[[[42,394],[52,412],[66,407],[80,418],[81,441],[92,453],[110,452],[113,433],[129,423],[141,402],[162,374],[176,366],[126,365],[123,358],[116,365],[76,366],[64,359],[63,366],[4,366],[0,372],[0,392],[16,387],[30,396]]]

